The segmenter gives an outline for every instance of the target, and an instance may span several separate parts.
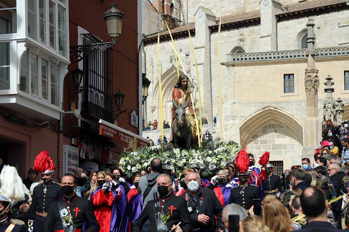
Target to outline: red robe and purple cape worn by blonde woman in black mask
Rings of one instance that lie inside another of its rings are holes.
[[[98,221],[99,226],[101,227],[99,232],[105,232],[104,228],[106,226],[104,217],[110,216],[110,232],[119,232],[119,225],[121,223],[121,217],[125,211],[126,205],[126,195],[124,187],[119,185],[120,192],[119,195],[115,193],[115,190],[111,188],[111,193],[113,198],[111,198],[110,193],[104,193],[102,186],[98,186],[95,191],[91,193],[90,200],[94,206],[95,216]],[[98,199],[95,199],[98,198]],[[119,203],[118,203],[119,201]],[[103,202],[101,205],[95,205],[96,202]],[[110,211],[111,208],[111,211]],[[102,212],[102,213],[101,213]],[[101,225],[102,224],[102,225]]]

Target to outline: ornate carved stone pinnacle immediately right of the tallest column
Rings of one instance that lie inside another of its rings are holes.
[[[333,101],[332,97],[332,93],[334,92],[334,88],[332,86],[334,85],[334,82],[332,81],[333,78],[331,77],[331,75],[327,75],[325,79],[326,81],[324,82],[324,85],[327,87],[324,89],[326,93],[326,99],[324,101],[324,112],[322,113],[322,115],[324,115],[323,123],[325,123],[326,120],[331,120],[333,123],[335,123],[336,101]]]

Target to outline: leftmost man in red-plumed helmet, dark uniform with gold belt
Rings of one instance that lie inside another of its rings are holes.
[[[43,232],[43,224],[50,204],[62,199],[63,192],[59,184],[53,183],[54,165],[47,151],[41,151],[34,161],[34,170],[41,174],[43,183],[34,188],[29,210],[28,231]]]

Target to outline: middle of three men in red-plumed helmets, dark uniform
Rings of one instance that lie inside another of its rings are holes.
[[[231,189],[229,204],[238,204],[246,210],[253,205],[253,199],[260,199],[260,191],[257,185],[248,184],[250,173],[248,172],[248,163],[250,160],[247,157],[246,151],[239,151],[235,158],[236,167],[238,169],[238,176],[240,185]],[[280,178],[279,178],[280,179]]]

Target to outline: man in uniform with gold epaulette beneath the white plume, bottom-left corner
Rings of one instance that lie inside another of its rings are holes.
[[[26,232],[25,223],[18,219],[10,219],[11,200],[0,195],[0,232]]]

